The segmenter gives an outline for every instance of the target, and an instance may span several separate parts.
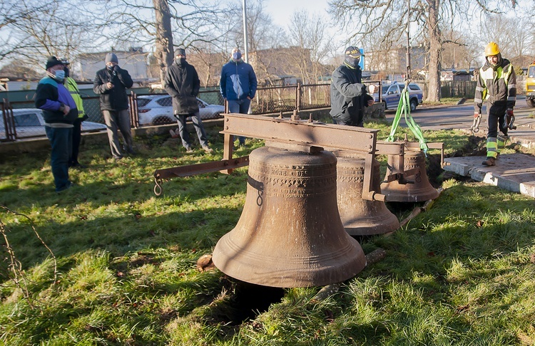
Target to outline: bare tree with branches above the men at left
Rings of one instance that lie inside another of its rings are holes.
[[[173,63],[175,47],[195,47],[220,39],[219,16],[224,11],[210,0],[106,0],[105,19],[96,18],[106,28],[113,46],[137,42],[156,45],[154,56],[161,69]]]

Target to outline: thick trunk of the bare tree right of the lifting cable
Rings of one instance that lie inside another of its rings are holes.
[[[440,101],[440,70],[442,70],[442,41],[439,28],[440,0],[428,0],[429,17],[427,20],[427,33],[429,35],[429,84],[427,88],[427,101]]]

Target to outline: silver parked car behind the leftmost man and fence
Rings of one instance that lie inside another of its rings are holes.
[[[43,111],[39,108],[21,108],[13,110],[17,138],[46,136]],[[82,132],[98,132],[106,130],[106,125],[98,122],[82,122]],[[0,137],[5,137],[4,119],[0,112]]]

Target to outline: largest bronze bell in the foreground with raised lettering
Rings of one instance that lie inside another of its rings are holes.
[[[213,251],[230,277],[280,288],[345,281],[365,267],[336,201],[334,154],[261,147],[249,156],[240,220]]]

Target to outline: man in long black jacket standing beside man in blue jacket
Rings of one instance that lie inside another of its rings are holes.
[[[178,48],[175,51],[175,62],[167,68],[163,88],[173,98],[173,112],[178,119],[178,133],[186,152],[193,152],[190,144],[190,135],[185,127],[186,117],[191,117],[201,147],[205,152],[213,152],[208,147],[206,132],[200,120],[197,94],[200,89],[200,80],[197,71],[185,61],[185,51]]]

